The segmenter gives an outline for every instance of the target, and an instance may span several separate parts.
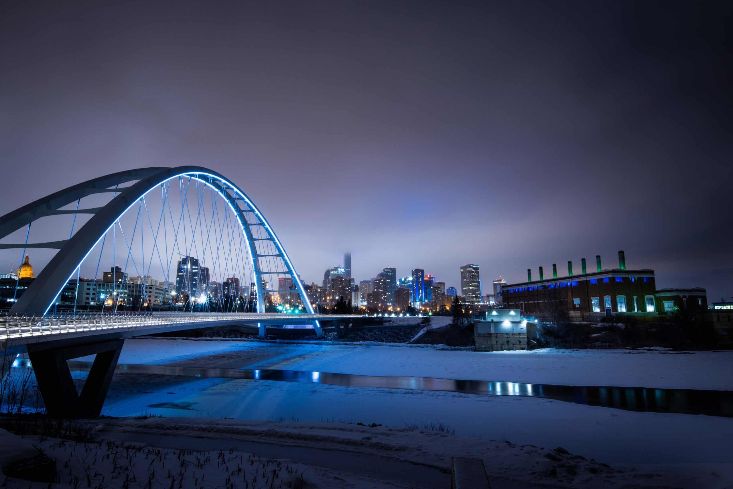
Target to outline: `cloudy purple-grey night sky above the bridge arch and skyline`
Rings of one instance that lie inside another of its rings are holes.
[[[234,3],[5,1],[0,214],[194,164],[309,283],[347,250],[486,292],[623,249],[733,295],[731,3]]]

